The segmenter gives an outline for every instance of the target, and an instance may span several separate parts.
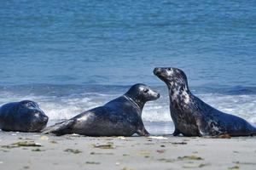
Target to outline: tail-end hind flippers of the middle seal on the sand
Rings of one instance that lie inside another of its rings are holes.
[[[70,119],[65,122],[59,122],[56,123],[55,125],[51,127],[45,127],[42,131],[42,133],[55,133],[56,135],[63,135],[67,133],[72,133],[70,132],[70,127],[72,127],[73,123],[75,120]]]

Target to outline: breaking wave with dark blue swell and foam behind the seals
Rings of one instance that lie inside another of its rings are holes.
[[[1,88],[0,105],[8,102],[31,99],[40,105],[50,120],[69,119],[83,111],[104,105],[111,99],[119,97],[128,89],[126,87],[94,87],[83,88],[76,86],[44,88]],[[161,97],[156,101],[148,102],[143,109],[145,122],[172,122],[169,109],[169,97],[165,87],[154,87],[160,91]],[[219,93],[221,92],[221,93]],[[239,92],[239,90],[238,90]],[[241,116],[248,122],[256,123],[256,94],[253,89],[242,90],[241,93],[229,93],[227,90],[198,90],[193,93],[212,105],[219,111]]]

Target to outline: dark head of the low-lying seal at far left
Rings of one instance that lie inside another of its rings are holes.
[[[48,116],[46,116],[44,111],[39,108],[38,104],[33,101],[20,101],[18,111],[20,112],[20,119],[26,120],[26,126],[29,127],[28,130],[31,132],[40,131],[48,122]]]

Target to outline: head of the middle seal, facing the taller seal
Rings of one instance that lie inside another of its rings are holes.
[[[149,88],[145,84],[135,84],[125,94],[137,103],[146,103],[147,101],[160,98],[160,94]]]

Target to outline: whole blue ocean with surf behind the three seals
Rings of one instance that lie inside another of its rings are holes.
[[[148,131],[172,133],[159,66],[182,69],[193,94],[256,123],[256,1],[0,2],[0,105],[34,100],[50,124],[142,82],[161,94],[143,110]]]

